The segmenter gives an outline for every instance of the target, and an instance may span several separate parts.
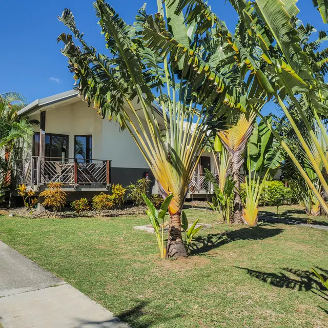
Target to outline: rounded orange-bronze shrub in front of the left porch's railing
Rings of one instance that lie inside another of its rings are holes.
[[[65,205],[67,193],[61,186],[64,186],[63,183],[50,182],[47,189],[40,193],[40,196],[45,198],[42,203],[45,208],[52,208],[53,211],[58,212]]]

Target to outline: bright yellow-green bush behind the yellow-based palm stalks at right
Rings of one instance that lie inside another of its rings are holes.
[[[240,185],[240,196],[243,202],[246,200],[245,183]],[[295,203],[295,194],[289,187],[285,187],[282,181],[273,180],[264,183],[259,206],[280,206]]]

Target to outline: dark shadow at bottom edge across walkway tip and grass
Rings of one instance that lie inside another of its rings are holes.
[[[137,305],[135,305],[132,309],[127,310],[125,312],[120,313],[117,318],[109,319],[105,321],[84,321],[80,320],[80,325],[78,328],[87,328],[97,327],[97,328],[108,328],[118,325],[119,323],[126,322],[131,327],[134,328],[148,328],[153,325],[161,324],[164,322],[168,322],[175,318],[181,317],[181,315],[173,315],[173,316],[161,316],[156,317],[154,315],[150,315],[145,310],[148,305],[148,301],[139,301]],[[121,321],[120,321],[121,320]]]

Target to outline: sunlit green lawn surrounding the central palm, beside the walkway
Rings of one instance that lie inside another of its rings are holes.
[[[189,220],[214,223],[211,211]],[[285,224],[215,224],[185,260],[159,260],[146,216],[0,217],[0,239],[132,327],[327,327],[328,232]],[[326,272],[327,274],[327,272]]]

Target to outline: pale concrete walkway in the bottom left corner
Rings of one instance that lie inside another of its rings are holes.
[[[0,241],[4,328],[128,328],[70,284]]]

